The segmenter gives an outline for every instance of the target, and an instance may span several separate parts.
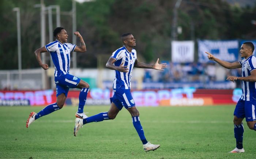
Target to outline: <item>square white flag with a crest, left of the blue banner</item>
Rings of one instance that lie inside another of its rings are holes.
[[[172,41],[172,62],[193,62],[194,47],[194,41]]]

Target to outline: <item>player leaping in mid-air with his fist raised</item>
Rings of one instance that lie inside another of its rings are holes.
[[[41,53],[50,52],[50,55],[52,56],[53,64],[55,67],[54,80],[56,84],[57,101],[56,103],[52,103],[46,106],[38,113],[31,112],[29,118],[27,119],[27,128],[32,122],[34,122],[38,118],[61,109],[67,98],[69,88],[81,89],[79,94],[78,111],[76,112],[75,116],[81,119],[87,118],[87,116],[83,112],[83,107],[86,102],[87,93],[89,91],[89,84],[79,79],[78,77],[69,74],[70,52],[86,52],[86,46],[84,44],[83,37],[80,35],[79,32],[74,32],[74,34],[80,40],[80,47],[74,44],[67,43],[67,32],[64,28],[57,27],[56,29],[54,29],[53,32],[56,40],[35,51],[35,57],[39,65],[43,69],[48,69],[49,67],[48,64],[42,63]]]

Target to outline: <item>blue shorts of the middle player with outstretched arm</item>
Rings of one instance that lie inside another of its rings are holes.
[[[135,106],[131,91],[123,88],[114,90],[114,95],[110,98],[110,102],[113,102],[119,110],[123,107],[128,109]]]

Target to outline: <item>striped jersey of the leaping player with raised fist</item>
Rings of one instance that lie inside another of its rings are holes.
[[[76,45],[70,43],[61,44],[56,40],[45,45],[45,48],[50,52],[54,64],[54,76],[69,74],[70,68],[70,52],[74,51]]]

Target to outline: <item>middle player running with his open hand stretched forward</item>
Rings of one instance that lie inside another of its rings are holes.
[[[125,107],[132,116],[133,126],[142,141],[144,151],[154,151],[160,147],[160,145],[151,144],[144,136],[144,131],[140,124],[139,111],[135,107],[135,102],[130,90],[131,75],[133,67],[163,70],[167,65],[166,63],[159,64],[159,59],[157,59],[154,65],[139,62],[137,60],[136,50],[133,49],[133,47],[136,46],[136,40],[131,33],[124,33],[121,36],[121,40],[124,46],[114,51],[106,63],[106,68],[113,69],[116,72],[116,78],[113,82],[114,95],[110,98],[111,107],[108,112],[101,112],[86,119],[76,118],[74,135],[77,135],[78,130],[84,124],[115,119],[118,112]]]

